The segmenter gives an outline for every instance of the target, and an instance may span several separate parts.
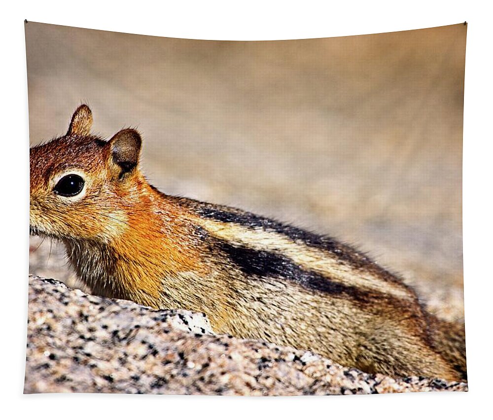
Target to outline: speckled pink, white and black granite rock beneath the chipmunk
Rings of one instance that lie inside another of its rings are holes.
[[[152,310],[30,276],[25,393],[321,395],[467,391],[392,379],[261,341],[216,336],[204,314]]]

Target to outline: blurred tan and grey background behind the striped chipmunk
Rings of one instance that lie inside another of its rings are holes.
[[[31,144],[87,103],[103,137],[140,130],[161,191],[335,236],[463,319],[466,28],[245,42],[29,22]],[[74,282],[49,240],[30,271]]]

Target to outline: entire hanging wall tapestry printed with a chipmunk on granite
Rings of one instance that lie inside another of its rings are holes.
[[[466,24],[25,30],[25,393],[467,391]]]

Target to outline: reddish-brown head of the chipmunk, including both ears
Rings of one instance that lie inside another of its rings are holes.
[[[109,141],[90,134],[92,113],[78,107],[63,137],[30,149],[30,231],[58,239],[109,241],[126,228],[138,194],[141,137],[124,129]]]

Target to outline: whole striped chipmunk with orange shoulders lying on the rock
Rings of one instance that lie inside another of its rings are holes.
[[[463,324],[361,252],[236,208],[166,195],[138,168],[141,136],[67,134],[30,149],[30,232],[62,241],[93,293],[204,312],[213,330],[308,349],[367,373],[464,380]]]

